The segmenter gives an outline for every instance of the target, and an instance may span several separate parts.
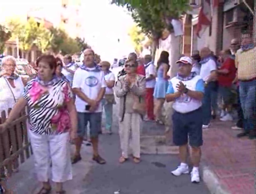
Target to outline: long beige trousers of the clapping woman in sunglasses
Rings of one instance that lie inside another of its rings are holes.
[[[141,116],[137,113],[126,113],[124,120],[119,122],[119,135],[122,156],[128,158],[129,137],[132,135],[131,147],[133,156],[140,157],[140,125],[142,123]]]

